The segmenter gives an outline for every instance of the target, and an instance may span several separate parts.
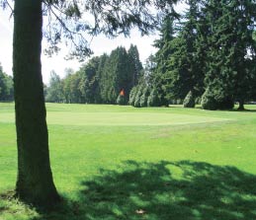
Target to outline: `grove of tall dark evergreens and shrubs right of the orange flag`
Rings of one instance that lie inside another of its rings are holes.
[[[158,48],[132,88],[134,107],[181,104],[242,110],[256,98],[256,6],[252,0],[188,0],[183,17],[166,16]]]

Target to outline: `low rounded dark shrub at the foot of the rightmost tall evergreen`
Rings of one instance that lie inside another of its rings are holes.
[[[208,88],[202,97],[201,105],[204,110],[231,110],[234,102],[223,91],[213,91]]]

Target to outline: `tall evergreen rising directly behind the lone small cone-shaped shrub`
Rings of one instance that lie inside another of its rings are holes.
[[[168,60],[168,94],[184,100],[191,91],[200,96],[204,90],[204,59],[198,30],[200,1],[187,1],[189,9],[180,24],[178,36],[170,41],[173,54]]]

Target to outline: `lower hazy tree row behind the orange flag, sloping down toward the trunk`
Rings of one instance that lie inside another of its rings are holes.
[[[91,58],[77,72],[64,79],[51,72],[45,101],[52,103],[127,105],[132,87],[142,77],[142,64],[135,45],[118,47],[110,55]]]

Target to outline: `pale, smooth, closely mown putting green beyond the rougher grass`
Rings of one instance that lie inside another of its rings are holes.
[[[172,125],[231,120],[230,118],[166,112],[70,112],[48,111],[47,123],[59,125]],[[0,115],[0,122],[14,122],[14,113]]]

